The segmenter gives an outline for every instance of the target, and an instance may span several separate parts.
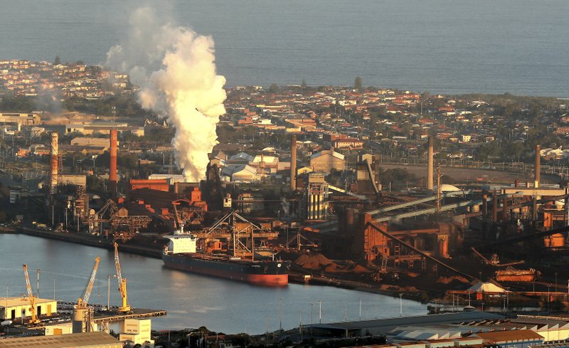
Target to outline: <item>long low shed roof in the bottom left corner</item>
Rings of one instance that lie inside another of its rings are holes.
[[[0,339],[0,348],[122,348],[122,342],[105,332]]]

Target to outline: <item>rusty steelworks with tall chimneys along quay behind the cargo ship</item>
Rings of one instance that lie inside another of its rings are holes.
[[[442,180],[443,161],[435,167],[434,137],[425,145],[425,172],[407,189],[385,188],[381,157],[372,153],[358,154],[356,162],[351,157],[352,169],[336,169],[342,173],[334,181],[320,170],[326,166],[309,167],[302,146],[297,154],[297,135],[292,135],[290,167],[271,173],[265,163],[269,155],[263,151],[255,157],[257,167],[248,170],[259,176],[257,186],[228,183],[220,174],[223,161],[211,157],[201,182],[166,174],[132,178],[119,194],[117,131],[110,130],[108,196],[94,201],[84,187],[61,182],[54,133],[49,176],[53,225],[145,247],[159,245],[162,235],[184,228],[198,237],[202,251],[235,257],[321,253],[330,260],[357,263],[361,270],[349,275],[339,265],[312,265],[296,271],[315,278],[389,281],[397,289],[413,284],[436,291],[432,284],[437,278],[467,283],[491,279],[521,288],[544,275],[551,279],[551,269],[536,258],[555,264],[569,254],[569,187],[541,182],[540,146],[529,178],[454,186]],[[325,156],[346,166],[344,155],[334,149],[309,157],[329,160]],[[274,184],[267,182],[274,179],[272,174],[288,187],[263,196],[262,190]],[[467,283],[453,285],[453,290]]]

